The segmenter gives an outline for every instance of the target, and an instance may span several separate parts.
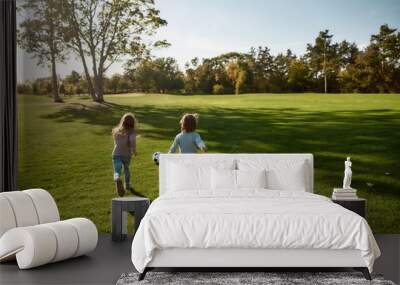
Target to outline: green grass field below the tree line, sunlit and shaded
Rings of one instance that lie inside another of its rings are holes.
[[[158,195],[155,151],[166,152],[184,112],[200,114],[199,132],[215,153],[313,153],[315,192],[330,196],[353,160],[352,186],[368,199],[376,233],[400,232],[400,95],[258,94],[226,96],[19,96],[19,188],[41,187],[63,219],[84,216],[110,232],[115,196],[111,128],[125,112],[140,121],[132,165],[140,194]],[[368,186],[372,183],[373,186]]]

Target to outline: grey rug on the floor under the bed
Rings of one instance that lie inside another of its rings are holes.
[[[138,281],[138,276],[139,273],[122,274],[117,285],[395,285],[380,275],[372,275],[372,281],[368,281],[359,272],[148,272],[142,281]]]

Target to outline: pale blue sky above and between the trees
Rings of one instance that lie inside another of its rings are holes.
[[[155,0],[168,21],[156,35],[172,45],[156,51],[185,62],[228,51],[245,52],[251,46],[268,46],[273,54],[290,48],[303,54],[319,31],[329,29],[335,41],[347,39],[360,47],[381,24],[400,29],[400,0]],[[46,76],[28,56],[19,54],[20,79]],[[82,71],[71,59],[58,66],[61,76]],[[109,74],[121,73],[114,64]],[[20,80],[20,81],[21,81]]]

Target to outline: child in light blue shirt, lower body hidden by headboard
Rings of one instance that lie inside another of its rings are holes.
[[[199,150],[207,152],[207,147],[196,132],[199,116],[197,114],[183,115],[180,124],[181,132],[176,135],[169,153],[176,153],[178,148],[181,153],[197,153]]]

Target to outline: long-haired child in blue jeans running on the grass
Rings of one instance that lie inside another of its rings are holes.
[[[131,193],[134,192],[130,183],[129,164],[132,155],[137,155],[136,127],[137,120],[135,115],[132,113],[126,113],[122,116],[119,124],[112,130],[112,136],[114,139],[114,149],[112,152],[114,181],[116,184],[116,192],[121,197],[125,195],[125,190],[121,180],[122,167],[124,168],[125,189],[129,190]]]

